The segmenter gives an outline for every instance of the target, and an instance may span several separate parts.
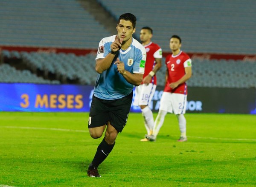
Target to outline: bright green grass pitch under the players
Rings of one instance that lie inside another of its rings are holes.
[[[0,112],[0,186],[256,185],[255,115],[188,113],[188,142],[177,142],[177,119],[168,114],[157,141],[140,142],[143,118],[130,113],[101,178],[86,173],[102,141],[90,137],[87,120],[88,113]]]

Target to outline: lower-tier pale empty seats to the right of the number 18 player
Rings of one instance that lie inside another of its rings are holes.
[[[158,85],[165,84],[164,65],[157,72]],[[256,62],[241,60],[192,59],[192,77],[187,81],[192,87],[256,88]]]

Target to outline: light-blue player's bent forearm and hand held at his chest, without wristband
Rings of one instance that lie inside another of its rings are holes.
[[[143,74],[137,74],[137,73],[130,73],[129,71],[125,70],[125,64],[124,62],[121,62],[119,58],[116,59],[116,62],[114,63],[117,66],[117,71],[132,85],[139,86],[143,79]]]

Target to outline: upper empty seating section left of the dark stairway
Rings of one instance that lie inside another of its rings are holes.
[[[97,48],[110,33],[76,0],[1,0],[0,45]]]

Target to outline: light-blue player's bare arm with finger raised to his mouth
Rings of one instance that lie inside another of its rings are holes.
[[[102,74],[103,71],[107,70],[111,63],[113,62],[116,53],[122,46],[122,38],[119,40],[118,36],[116,35],[115,40],[111,43],[111,52],[107,54],[105,58],[96,59],[96,66],[95,70],[98,74]]]

